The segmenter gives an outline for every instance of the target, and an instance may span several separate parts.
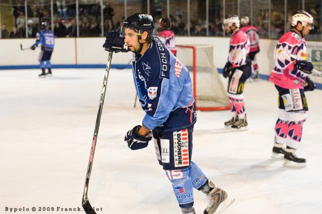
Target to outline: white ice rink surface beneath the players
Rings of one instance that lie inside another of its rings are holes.
[[[82,195],[104,69],[0,71],[0,213],[6,207],[82,209]],[[226,82],[224,83],[226,84]],[[248,131],[230,132],[229,111],[198,112],[193,161],[235,198],[224,214],[322,213],[322,91],[307,92],[308,117],[298,155],[307,167],[290,169],[270,158],[278,116],[277,91],[259,80],[245,86]],[[123,141],[141,124],[129,69],[111,69],[89,185],[98,213],[181,213],[153,144],[138,151]],[[204,195],[194,191],[197,214]],[[77,210],[77,209],[76,209]],[[35,213],[21,211],[16,213]]]

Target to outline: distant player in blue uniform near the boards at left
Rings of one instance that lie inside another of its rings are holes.
[[[36,34],[36,43],[33,44],[30,49],[35,50],[39,43],[41,43],[41,52],[39,54],[38,60],[40,61],[40,68],[42,73],[38,76],[51,76],[52,73],[50,58],[52,51],[54,50],[55,35],[51,30],[49,30],[49,25],[47,22],[41,23],[41,30]],[[48,73],[45,72],[46,68],[48,69]]]

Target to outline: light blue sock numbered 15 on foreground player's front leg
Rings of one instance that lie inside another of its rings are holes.
[[[189,169],[166,170],[179,206],[182,208],[193,206],[193,186],[189,177]]]

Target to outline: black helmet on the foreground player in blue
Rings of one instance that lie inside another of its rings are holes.
[[[125,37],[124,28],[134,29],[138,34],[139,39],[142,33],[146,31],[147,40],[151,40],[154,29],[153,17],[149,14],[133,14],[123,21],[123,26],[121,28],[121,37]]]

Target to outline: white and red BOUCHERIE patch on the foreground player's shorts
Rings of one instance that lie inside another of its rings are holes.
[[[189,166],[188,129],[173,132],[175,167]]]

